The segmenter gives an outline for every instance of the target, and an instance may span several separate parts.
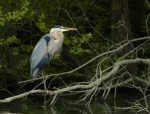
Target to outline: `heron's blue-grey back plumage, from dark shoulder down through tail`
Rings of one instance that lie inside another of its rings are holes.
[[[49,38],[49,40],[47,40]],[[44,35],[40,41],[35,46],[31,58],[31,69],[30,74],[32,78],[36,78],[39,76],[40,71],[49,64],[51,60],[51,55],[48,53],[48,44],[51,41],[51,38],[49,34]],[[48,58],[50,57],[50,58]],[[44,59],[47,58],[47,63],[44,61]]]

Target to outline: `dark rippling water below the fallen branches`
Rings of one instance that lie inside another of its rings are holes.
[[[130,110],[118,110],[115,107],[130,106],[128,102],[134,102],[141,96],[135,92],[121,92],[115,99],[114,94],[110,94],[106,100],[97,96],[90,105],[75,103],[75,98],[74,101],[60,98],[54,106],[49,103],[44,106],[43,97],[33,97],[0,104],[0,114],[135,114]]]

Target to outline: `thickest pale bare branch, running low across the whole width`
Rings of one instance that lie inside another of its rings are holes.
[[[87,90],[87,89],[91,89],[94,87],[98,87],[103,81],[105,81],[106,79],[109,79],[111,76],[113,76],[115,73],[117,73],[120,66],[132,64],[132,63],[137,63],[137,62],[142,62],[142,63],[150,65],[150,59],[136,58],[136,59],[128,59],[128,60],[118,61],[118,62],[114,63],[111,71],[102,75],[100,78],[96,79],[95,81],[89,82],[88,84],[76,84],[73,86],[68,86],[68,87],[57,89],[54,91],[51,91],[51,90],[31,90],[29,92],[25,92],[25,93],[22,93],[19,95],[15,95],[15,96],[0,100],[0,103],[8,103],[8,102],[14,101],[16,99],[20,99],[20,98],[23,98],[25,96],[32,95],[32,94],[59,95],[59,94],[62,94],[64,92],[73,92],[74,90],[77,90],[77,89],[79,89],[79,91],[80,90],[82,91],[82,90]]]

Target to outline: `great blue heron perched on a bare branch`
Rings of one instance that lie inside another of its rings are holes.
[[[49,34],[44,35],[36,44],[30,58],[30,74],[37,78],[45,66],[49,64],[55,53],[60,51],[64,41],[63,32],[77,30],[63,26],[54,26]]]

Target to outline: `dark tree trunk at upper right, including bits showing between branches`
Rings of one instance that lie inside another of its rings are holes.
[[[131,36],[131,24],[129,17],[128,0],[113,0],[112,1],[112,15],[111,15],[111,35],[115,43],[119,43],[125,40],[130,40]],[[126,46],[119,55],[123,56],[133,50],[133,45]],[[129,65],[127,67],[130,73],[136,74],[136,64]]]

